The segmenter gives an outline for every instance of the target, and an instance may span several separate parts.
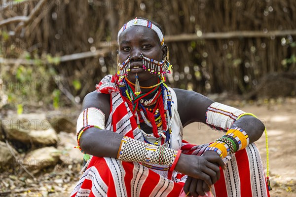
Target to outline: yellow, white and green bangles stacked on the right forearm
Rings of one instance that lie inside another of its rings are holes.
[[[215,151],[221,158],[246,148],[250,143],[247,133],[238,127],[229,129],[225,135],[210,144],[207,151]]]

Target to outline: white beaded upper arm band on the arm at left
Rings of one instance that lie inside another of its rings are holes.
[[[86,129],[91,127],[105,129],[105,114],[101,110],[94,107],[83,110],[83,112],[80,113],[77,119],[77,125],[76,125],[77,146],[74,148],[79,149],[82,153],[84,152],[80,148],[80,143],[79,143],[80,137]]]

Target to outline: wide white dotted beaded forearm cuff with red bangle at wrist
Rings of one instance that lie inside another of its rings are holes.
[[[124,136],[118,150],[117,158],[122,161],[136,161],[170,166],[173,171],[180,158],[181,150],[156,146]]]

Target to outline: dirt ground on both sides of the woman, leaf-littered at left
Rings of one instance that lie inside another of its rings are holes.
[[[296,197],[296,99],[222,103],[256,114],[264,122],[269,145],[270,196]],[[195,144],[212,142],[222,135],[222,132],[200,123],[192,123],[184,128],[184,139]],[[71,147],[75,146],[74,140],[71,143]],[[264,134],[256,144],[263,163],[266,163]],[[54,169],[47,169],[40,174],[37,181],[25,178],[25,173],[18,175],[11,171],[3,172],[0,176],[0,196],[68,197],[80,177],[80,168],[80,162],[60,163]]]

